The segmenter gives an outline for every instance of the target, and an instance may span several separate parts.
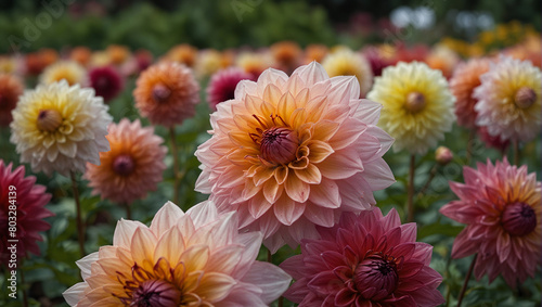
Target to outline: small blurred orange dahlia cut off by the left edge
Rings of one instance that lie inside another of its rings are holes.
[[[24,85],[20,78],[0,73],[0,127],[5,127],[13,120],[11,111],[17,105],[23,90]]]

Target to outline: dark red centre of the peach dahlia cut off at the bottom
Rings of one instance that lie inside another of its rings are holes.
[[[147,280],[132,293],[129,306],[177,307],[181,303],[181,292],[163,280]]]

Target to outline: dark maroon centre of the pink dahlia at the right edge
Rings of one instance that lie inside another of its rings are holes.
[[[501,222],[504,230],[511,235],[522,236],[537,228],[537,215],[528,204],[513,203],[504,208]]]

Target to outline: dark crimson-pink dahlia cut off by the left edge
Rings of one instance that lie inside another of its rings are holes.
[[[46,187],[35,184],[36,177],[25,177],[25,167],[20,166],[12,171],[13,165],[5,165],[0,159],[0,264],[8,267],[11,253],[8,247],[12,244],[8,240],[18,240],[16,243],[17,259],[26,257],[28,253],[39,255],[36,241],[43,239],[39,234],[51,226],[43,220],[53,214],[46,209],[51,195],[46,193]],[[10,188],[14,187],[14,188]],[[13,216],[13,213],[16,216]],[[11,235],[10,220],[16,217],[15,236]]]

